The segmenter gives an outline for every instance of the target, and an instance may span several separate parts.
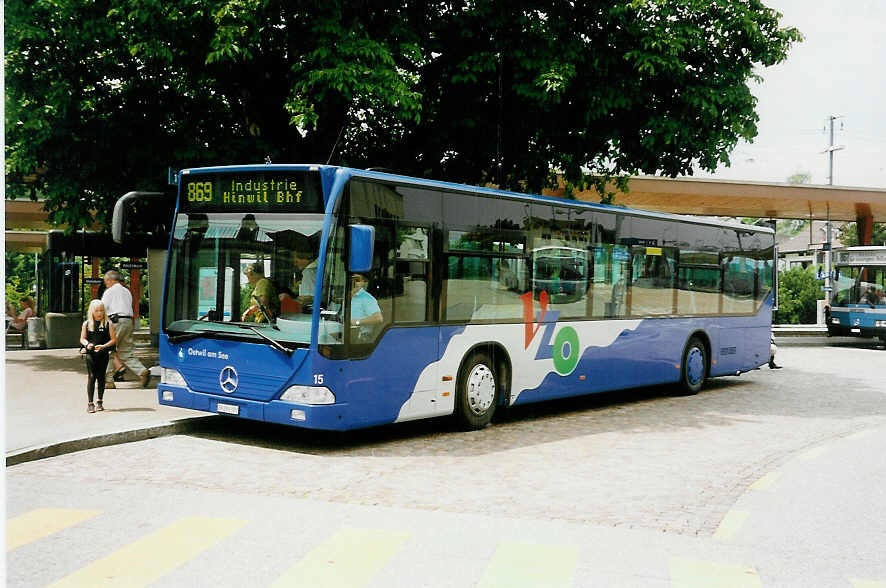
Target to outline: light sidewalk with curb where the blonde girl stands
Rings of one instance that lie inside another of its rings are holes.
[[[156,351],[136,355],[156,365]],[[132,377],[132,376],[130,376]],[[86,364],[77,349],[6,351],[6,465],[188,430],[203,412],[157,402],[150,388],[118,382],[105,391],[104,412],[86,412]]]

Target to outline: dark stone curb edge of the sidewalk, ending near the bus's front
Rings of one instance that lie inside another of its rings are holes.
[[[38,459],[45,459],[47,457],[57,457],[59,455],[74,453],[76,451],[85,451],[86,449],[132,443],[133,441],[145,441],[147,439],[165,437],[167,435],[190,433],[199,430],[212,416],[213,415],[188,417],[143,429],[130,429],[128,431],[106,433],[103,435],[95,435],[93,437],[72,439],[70,441],[61,441],[59,443],[50,443],[49,445],[42,445],[40,447],[13,451],[6,454],[6,467],[27,463],[29,461],[36,461]]]

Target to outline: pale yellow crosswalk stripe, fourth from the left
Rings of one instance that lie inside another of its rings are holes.
[[[505,541],[492,556],[478,588],[572,586],[578,550],[566,545]]]

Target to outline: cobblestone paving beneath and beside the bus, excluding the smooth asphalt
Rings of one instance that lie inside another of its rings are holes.
[[[778,359],[785,369],[697,396],[571,399],[470,433],[448,421],[332,435],[224,420],[8,468],[9,492],[35,478],[136,484],[709,537],[768,472],[886,424],[886,351],[787,345]]]

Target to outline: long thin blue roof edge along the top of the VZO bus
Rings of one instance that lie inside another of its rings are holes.
[[[694,217],[694,216],[686,216],[679,214],[672,214],[667,212],[652,212],[648,210],[642,210],[638,208],[628,208],[626,206],[618,206],[611,204],[598,204],[592,202],[585,202],[582,200],[566,200],[564,198],[557,198],[555,196],[542,196],[538,194],[523,194],[520,192],[511,192],[508,190],[500,190],[497,188],[490,188],[484,186],[471,186],[468,184],[457,184],[454,182],[447,182],[441,180],[428,180],[423,178],[416,178],[413,176],[404,176],[395,173],[382,172],[382,171],[374,171],[374,170],[365,170],[359,168],[349,168],[349,167],[341,167],[341,166],[332,166],[332,165],[323,165],[323,164],[250,164],[250,165],[227,165],[227,166],[213,166],[213,167],[202,167],[202,168],[189,168],[181,170],[181,174],[189,174],[189,173],[213,173],[213,172],[243,172],[243,171],[281,171],[281,170],[299,170],[299,171],[318,171],[325,173],[336,173],[343,172],[347,174],[349,177],[361,177],[367,178],[371,180],[380,180],[380,181],[395,181],[401,184],[410,184],[413,186],[421,186],[426,188],[445,188],[447,190],[453,192],[460,192],[464,194],[487,194],[492,196],[498,196],[502,198],[514,199],[514,200],[526,200],[528,202],[548,202],[552,204],[559,204],[561,206],[572,206],[576,208],[589,208],[594,210],[601,210],[607,212],[619,212],[622,214],[627,214],[630,216],[642,216],[648,218],[660,218],[660,219],[669,219],[674,221],[680,221],[685,223],[692,223],[698,225],[708,225],[714,227],[725,227],[731,229],[741,229],[744,231],[752,231],[758,233],[768,233],[774,234],[770,227],[760,227],[757,225],[746,225],[735,221],[722,221],[718,219],[712,219],[709,217]]]

